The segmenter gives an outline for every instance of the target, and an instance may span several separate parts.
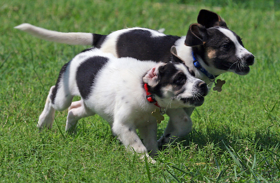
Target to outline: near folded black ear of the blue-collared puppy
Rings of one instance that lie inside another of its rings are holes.
[[[185,45],[197,46],[203,45],[208,40],[207,29],[199,23],[193,23],[189,26]]]

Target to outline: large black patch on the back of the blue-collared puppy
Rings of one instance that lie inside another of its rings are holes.
[[[180,37],[157,36],[146,30],[131,30],[119,36],[117,53],[119,57],[132,57],[138,60],[169,62],[170,48]]]

